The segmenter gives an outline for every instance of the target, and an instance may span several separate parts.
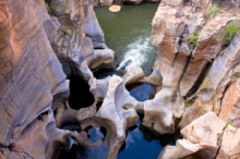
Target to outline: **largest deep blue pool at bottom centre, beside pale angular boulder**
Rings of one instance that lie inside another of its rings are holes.
[[[175,145],[179,133],[159,135],[141,124],[141,120],[133,130],[128,131],[125,147],[119,152],[118,159],[157,159],[166,145]]]

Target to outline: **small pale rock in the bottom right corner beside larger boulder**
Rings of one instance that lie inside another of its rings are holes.
[[[217,159],[237,159],[240,151],[240,130],[229,125],[224,131],[223,142]]]

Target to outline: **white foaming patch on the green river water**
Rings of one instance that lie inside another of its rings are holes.
[[[128,51],[124,53],[123,61],[117,70],[127,70],[130,65],[142,66],[147,61],[147,54],[153,51],[151,37],[140,36],[137,39],[128,45]]]

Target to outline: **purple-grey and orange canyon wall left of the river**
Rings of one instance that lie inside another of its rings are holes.
[[[0,7],[0,158],[57,158],[71,148],[69,136],[97,145],[55,119],[68,105],[67,76],[82,75],[74,69],[86,58],[92,70],[115,66],[93,2],[1,0]]]

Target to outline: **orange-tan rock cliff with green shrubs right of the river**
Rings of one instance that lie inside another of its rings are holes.
[[[213,14],[211,10],[218,11]],[[159,159],[216,158],[220,147],[218,158],[237,156],[236,146],[229,149],[233,143],[226,144],[225,138],[232,136],[224,133],[224,127],[233,123],[235,131],[239,129],[240,34],[226,40],[229,27],[239,28],[239,22],[237,1],[163,0],[159,4],[152,37],[163,88],[144,105],[144,121],[147,126],[154,123],[159,133],[171,133],[178,126],[183,135],[176,147],[166,147]],[[187,101],[194,102],[187,108]]]

